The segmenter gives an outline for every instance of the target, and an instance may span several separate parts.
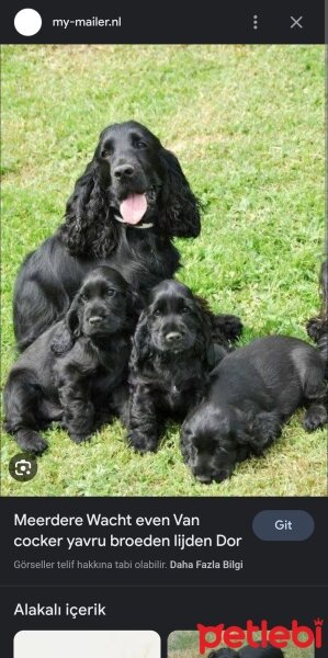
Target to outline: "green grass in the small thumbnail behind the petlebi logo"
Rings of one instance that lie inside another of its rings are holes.
[[[255,639],[260,639],[258,633],[255,633],[253,636]],[[242,646],[245,645],[247,645],[247,642],[245,642]],[[220,644],[217,648],[224,646],[224,644]],[[283,651],[284,658],[314,658],[313,646],[302,649],[289,642]],[[168,658],[201,658],[201,654],[199,653],[199,633],[196,631],[173,631],[168,638]]]

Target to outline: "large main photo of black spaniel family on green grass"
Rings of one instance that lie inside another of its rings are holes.
[[[324,46],[4,46],[1,150],[1,495],[324,496]]]

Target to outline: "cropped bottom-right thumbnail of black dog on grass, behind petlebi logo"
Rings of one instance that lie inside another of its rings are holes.
[[[253,638],[260,644],[257,634]],[[201,655],[196,631],[173,631],[168,638],[168,658],[191,658],[191,656],[193,658],[315,658],[315,649],[313,645],[306,648],[297,647],[291,640],[284,648],[272,645],[265,648],[253,647],[245,640],[238,649],[222,643],[215,649],[207,649]]]

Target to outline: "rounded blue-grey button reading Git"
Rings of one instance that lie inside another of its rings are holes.
[[[264,542],[304,542],[313,534],[315,522],[304,510],[263,510],[253,518],[252,529]]]

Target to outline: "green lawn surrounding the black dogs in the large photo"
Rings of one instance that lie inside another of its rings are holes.
[[[181,280],[240,315],[244,342],[306,338],[324,250],[324,46],[5,46],[2,77],[2,384],[18,268],[60,223],[100,131],[128,118],[177,154],[204,204],[202,236],[177,240]],[[8,475],[18,449],[4,435],[2,495],[323,496],[326,433],[301,420],[207,487],[183,465],[177,426],[146,456],[118,422],[81,446],[54,428],[25,484]]]

